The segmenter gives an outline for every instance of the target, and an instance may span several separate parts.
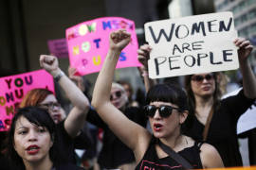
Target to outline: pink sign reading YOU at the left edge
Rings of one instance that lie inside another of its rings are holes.
[[[15,108],[26,93],[34,88],[54,92],[53,78],[45,70],[0,78],[0,131],[9,129]]]

